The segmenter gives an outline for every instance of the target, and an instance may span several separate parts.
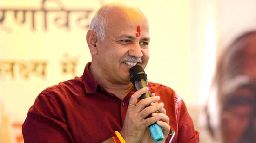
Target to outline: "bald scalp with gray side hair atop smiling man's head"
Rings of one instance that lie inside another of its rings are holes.
[[[102,6],[98,10],[91,21],[90,29],[94,30],[97,37],[103,41],[109,26],[113,27],[115,23],[130,19],[142,19],[148,23],[138,7],[124,2],[114,2]]]

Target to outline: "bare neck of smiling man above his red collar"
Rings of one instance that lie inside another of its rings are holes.
[[[121,84],[109,81],[99,69],[100,68],[94,67],[93,63],[89,67],[90,73],[94,80],[97,81],[106,91],[114,94],[119,99],[124,99],[125,96],[134,88],[131,82],[128,82],[127,84]]]

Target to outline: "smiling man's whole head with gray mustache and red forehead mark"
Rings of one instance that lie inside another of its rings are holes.
[[[99,9],[90,28],[86,40],[94,78],[130,87],[129,69],[136,64],[146,68],[149,60],[149,26],[144,14],[135,6],[111,3]]]

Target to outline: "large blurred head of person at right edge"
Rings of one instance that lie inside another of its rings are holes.
[[[255,143],[256,30],[238,37],[223,52],[217,63],[214,83],[220,106],[216,115],[220,119],[216,116],[209,119],[220,123],[219,128],[210,124],[210,131],[223,143]]]

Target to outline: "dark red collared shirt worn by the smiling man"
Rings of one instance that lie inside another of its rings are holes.
[[[39,94],[22,126],[25,143],[100,143],[121,130],[135,89],[123,100],[119,99],[93,79],[89,65],[81,77],[61,82]],[[199,142],[199,133],[183,100],[169,87],[152,82],[148,82],[148,86],[165,105],[171,130],[175,131],[172,143]]]

